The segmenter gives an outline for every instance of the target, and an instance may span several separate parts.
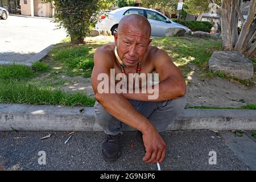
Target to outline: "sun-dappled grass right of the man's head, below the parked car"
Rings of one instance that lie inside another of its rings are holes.
[[[208,60],[214,51],[221,50],[221,39],[200,39],[192,36],[154,38],[152,45],[164,49],[187,78],[191,72],[188,64],[196,64],[201,75],[209,75]]]

